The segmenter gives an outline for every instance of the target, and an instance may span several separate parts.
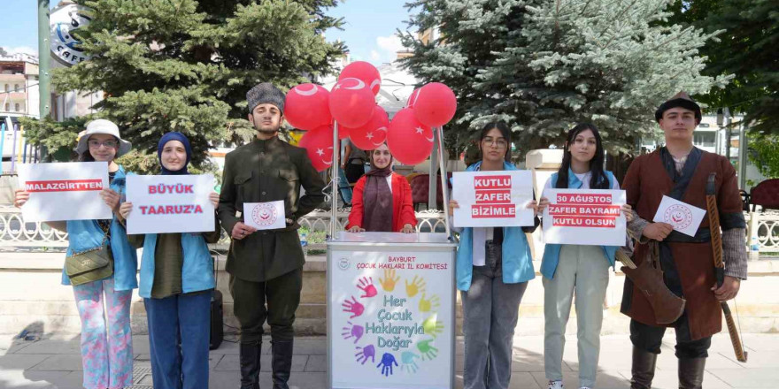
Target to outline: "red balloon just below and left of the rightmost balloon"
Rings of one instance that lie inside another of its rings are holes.
[[[414,110],[397,111],[387,132],[387,146],[403,164],[420,164],[433,151],[433,130],[417,120]]]

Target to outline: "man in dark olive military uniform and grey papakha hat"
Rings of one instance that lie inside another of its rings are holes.
[[[303,248],[297,218],[325,196],[324,181],[305,149],[278,137],[284,122],[284,94],[270,83],[246,94],[257,138],[225,156],[219,217],[233,239],[228,253],[230,294],[241,324],[241,388],[258,389],[262,325],[271,327],[274,389],[288,388],[292,366],[292,323],[303,285]],[[301,185],[305,195],[299,197]],[[284,202],[286,226],[258,231],[243,223],[244,202]],[[267,305],[267,307],[266,307]]]

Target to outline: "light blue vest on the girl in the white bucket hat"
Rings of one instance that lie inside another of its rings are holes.
[[[119,194],[124,193],[126,174],[122,166],[116,172],[111,188]],[[68,220],[67,221],[68,247],[66,256],[73,256],[73,252],[81,252],[90,248],[98,248],[103,243],[103,230],[97,225],[96,220]],[[127,241],[127,231],[114,215],[111,222],[111,252],[113,254],[113,280],[114,288],[118,291],[132,290],[138,287],[136,277],[138,269],[138,257],[135,248]],[[62,285],[70,285],[65,267],[62,269]]]

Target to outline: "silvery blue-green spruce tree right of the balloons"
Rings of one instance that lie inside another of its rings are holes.
[[[729,76],[701,75],[698,49],[716,33],[659,25],[673,0],[437,0],[412,26],[441,28],[436,42],[405,35],[406,60],[423,80],[443,79],[459,97],[459,141],[504,120],[523,151],[562,145],[590,121],[606,146],[629,149],[656,128],[659,103],[684,89],[723,87]],[[463,87],[465,86],[465,87]]]

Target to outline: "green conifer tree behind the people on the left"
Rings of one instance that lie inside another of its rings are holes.
[[[97,116],[115,121],[135,153],[131,168],[156,171],[159,137],[185,133],[196,167],[207,149],[241,143],[253,130],[245,93],[320,77],[343,54],[321,34],[340,27],[336,0],[79,0],[95,11],[74,33],[91,60],[53,73],[58,90],[104,91]],[[70,125],[68,125],[70,123]],[[73,147],[76,122],[27,120],[32,141]]]

